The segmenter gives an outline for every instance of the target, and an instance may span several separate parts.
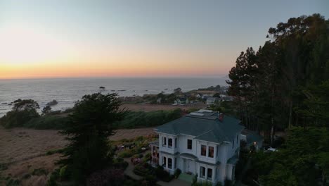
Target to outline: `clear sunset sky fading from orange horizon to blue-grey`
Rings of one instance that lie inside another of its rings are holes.
[[[0,79],[221,76],[269,27],[329,1],[0,0]]]

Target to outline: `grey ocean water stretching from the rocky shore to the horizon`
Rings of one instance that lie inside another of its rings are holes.
[[[46,103],[56,99],[58,104],[53,111],[72,108],[85,94],[99,92],[105,87],[104,94],[114,93],[120,97],[143,94],[172,93],[177,87],[183,91],[226,85],[226,78],[72,78],[72,79],[34,79],[0,80],[0,117],[11,110],[10,104],[16,99],[34,99],[43,108]],[[125,90],[125,91],[118,91]]]

